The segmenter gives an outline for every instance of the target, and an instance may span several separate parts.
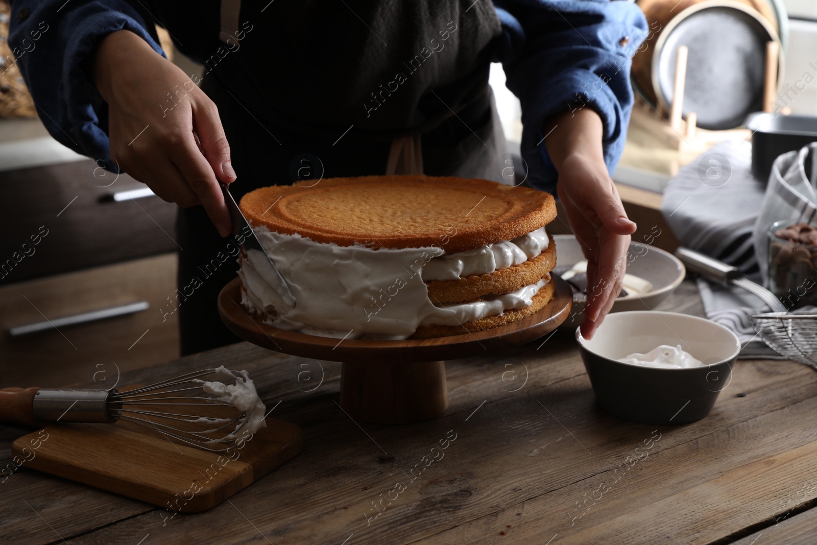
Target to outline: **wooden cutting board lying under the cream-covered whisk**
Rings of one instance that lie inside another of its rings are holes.
[[[302,446],[300,427],[266,418],[251,440],[222,454],[130,422],[51,424],[20,437],[11,451],[25,467],[152,503],[173,516],[217,506]]]

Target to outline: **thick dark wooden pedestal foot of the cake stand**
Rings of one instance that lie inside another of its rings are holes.
[[[440,416],[448,406],[444,361],[343,362],[341,407],[355,420],[410,424]]]

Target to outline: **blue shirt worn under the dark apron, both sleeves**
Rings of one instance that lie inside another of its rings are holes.
[[[630,59],[647,35],[641,10],[626,0],[493,3],[502,24],[493,60],[502,62],[507,87],[520,99],[529,183],[555,193],[542,125],[552,114],[582,108],[600,115],[605,163],[613,172],[632,109]],[[127,29],[164,55],[150,20],[125,0],[12,2],[8,41],[42,122],[57,141],[114,172],[107,108],[89,77],[92,52],[105,35]]]

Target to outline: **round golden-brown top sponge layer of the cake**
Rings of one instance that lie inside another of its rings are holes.
[[[239,204],[253,227],[319,243],[462,252],[511,240],[556,217],[551,194],[487,180],[435,176],[332,178],[273,185]]]

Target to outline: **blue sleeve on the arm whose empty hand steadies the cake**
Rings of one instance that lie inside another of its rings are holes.
[[[494,0],[502,22],[496,60],[522,105],[521,152],[534,187],[556,192],[542,125],[553,114],[592,108],[604,124],[613,172],[632,109],[632,55],[647,36],[641,10],[625,0]]]

